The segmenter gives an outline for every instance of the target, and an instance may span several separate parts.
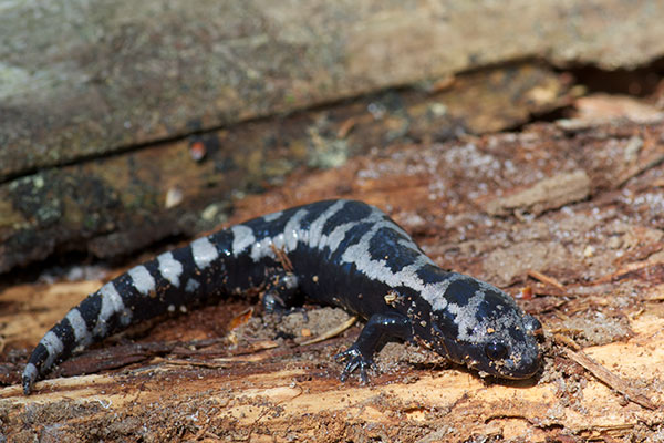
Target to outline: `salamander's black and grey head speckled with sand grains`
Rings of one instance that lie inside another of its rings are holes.
[[[464,276],[448,286],[445,299],[445,307],[432,313],[429,344],[437,352],[505,379],[528,379],[539,370],[535,336],[541,323],[510,296]]]

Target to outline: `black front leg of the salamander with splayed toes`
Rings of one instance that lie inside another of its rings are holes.
[[[371,316],[357,340],[347,350],[335,356],[338,360],[347,361],[341,372],[341,381],[346,381],[351,372],[360,368],[360,379],[366,383],[366,370],[373,365],[373,354],[377,348],[390,338],[409,340],[412,337],[413,329],[407,317],[400,313]]]

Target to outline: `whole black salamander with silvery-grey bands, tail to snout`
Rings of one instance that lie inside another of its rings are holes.
[[[292,266],[292,268],[291,268]],[[39,342],[23,372],[34,382],[76,348],[210,297],[264,290],[268,310],[299,296],[367,322],[342,380],[366,369],[391,338],[423,343],[480,373],[525,379],[539,368],[541,326],[499,289],[437,267],[380,209],[324,200],[255,218],[136,266],[90,295]]]

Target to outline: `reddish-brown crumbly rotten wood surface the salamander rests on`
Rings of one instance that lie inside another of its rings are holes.
[[[662,440],[664,121],[394,146],[301,169],[238,200],[228,224],[329,197],[381,206],[442,267],[516,296],[544,324],[542,371],[483,380],[390,343],[371,384],[341,383],[333,356],[360,327],[301,343],[343,312],[310,307],[307,319],[278,321],[232,299],[83,352],[31,396],[3,388],[8,441]],[[101,284],[0,295],[4,383],[18,383],[30,347]]]

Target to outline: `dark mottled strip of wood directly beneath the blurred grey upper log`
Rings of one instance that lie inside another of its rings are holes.
[[[108,259],[193,237],[224,223],[234,197],[277,186],[298,167],[523,124],[571,103],[566,78],[530,63],[500,66],[12,179],[0,184],[0,275],[54,251]]]

